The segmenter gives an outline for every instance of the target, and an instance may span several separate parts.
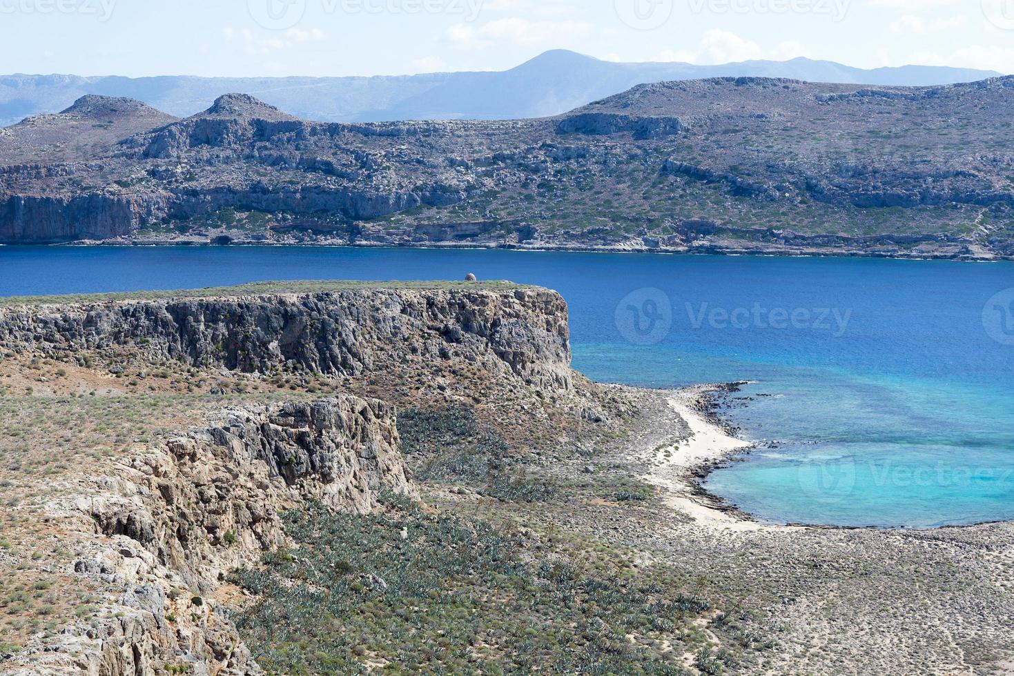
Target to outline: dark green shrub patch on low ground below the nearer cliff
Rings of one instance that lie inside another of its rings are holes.
[[[667,576],[639,582],[607,551],[533,559],[489,522],[385,500],[372,516],[287,513],[294,547],[230,576],[258,598],[234,619],[268,673],[365,674],[381,659],[407,673],[680,674],[676,658],[701,649],[693,622],[710,604]]]

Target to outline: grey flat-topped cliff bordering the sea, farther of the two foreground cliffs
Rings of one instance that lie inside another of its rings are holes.
[[[153,360],[354,376],[452,357],[571,388],[567,304],[553,291],[350,289],[0,309],[0,344],[44,353],[133,347]]]

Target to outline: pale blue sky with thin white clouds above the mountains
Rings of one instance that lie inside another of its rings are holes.
[[[0,0],[0,73],[339,76],[809,57],[1014,73],[1014,0]]]

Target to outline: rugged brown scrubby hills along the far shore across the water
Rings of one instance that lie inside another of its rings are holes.
[[[1012,92],[716,78],[376,124],[91,96],[0,131],[0,241],[1010,257]]]

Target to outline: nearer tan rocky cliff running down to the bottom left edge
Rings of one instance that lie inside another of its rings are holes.
[[[104,537],[74,572],[120,591],[107,619],[29,647],[15,674],[259,673],[204,598],[220,575],[283,544],[281,513],[303,501],[365,513],[413,493],[393,407],[348,395],[225,411],[86,487],[61,516]]]

